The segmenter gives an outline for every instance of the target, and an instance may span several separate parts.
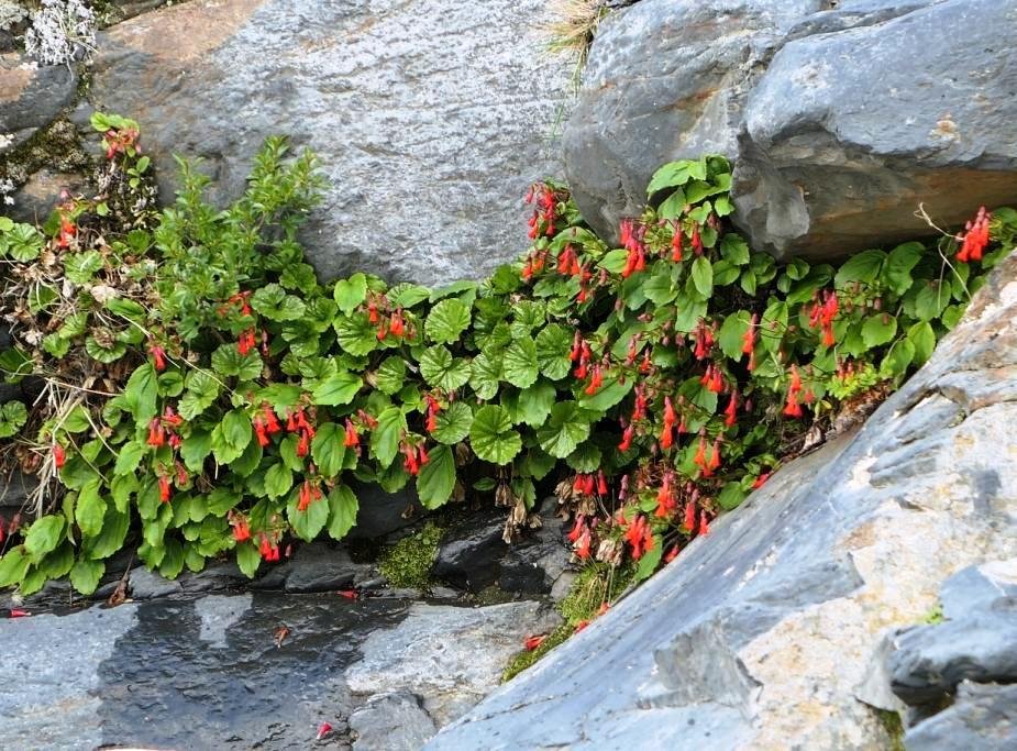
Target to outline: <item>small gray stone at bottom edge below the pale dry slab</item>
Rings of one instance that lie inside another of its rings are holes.
[[[417,751],[438,728],[409,692],[372,696],[350,715],[355,751]]]

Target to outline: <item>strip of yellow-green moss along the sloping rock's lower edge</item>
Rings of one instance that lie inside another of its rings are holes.
[[[548,634],[532,652],[523,651],[516,654],[505,672],[502,681],[510,681],[527,667],[535,663],[555,647],[566,641],[575,633],[576,626],[590,621],[597,617],[604,603],[613,601],[632,582],[634,567],[624,565],[613,567],[606,563],[590,563],[576,576],[568,589],[568,594],[559,604],[559,611],[565,622]]]

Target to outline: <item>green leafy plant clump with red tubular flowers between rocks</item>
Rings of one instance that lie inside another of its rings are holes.
[[[493,497],[506,540],[554,488],[576,556],[644,578],[921,365],[1017,232],[1001,209],[958,238],[778,265],[731,230],[730,165],[709,156],[654,175],[622,247],[542,184],[530,250],[483,281],[322,285],[298,242],[310,154],[269,140],[224,210],[180,162],[175,205],[131,219],[136,124],[95,124],[107,195],[43,228],[0,219],[0,366],[43,389],[0,413],[42,483],[31,523],[4,527],[0,586],[24,594],[65,575],[91,593],[126,545],[168,577],[225,554],[253,576],[294,539],[343,538],[352,478],[412,484],[429,509]]]

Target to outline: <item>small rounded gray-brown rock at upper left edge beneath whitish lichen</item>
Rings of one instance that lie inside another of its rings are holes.
[[[18,53],[0,55],[0,155],[27,141],[68,107],[78,77],[66,65],[37,66]]]

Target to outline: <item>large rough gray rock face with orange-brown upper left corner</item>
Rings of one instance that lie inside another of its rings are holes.
[[[531,34],[541,0],[198,0],[100,40],[90,99],[140,121],[163,190],[170,153],[235,197],[265,136],[321,157],[306,244],[328,278],[477,277],[526,247],[522,195],[566,66]]]

